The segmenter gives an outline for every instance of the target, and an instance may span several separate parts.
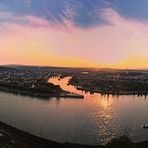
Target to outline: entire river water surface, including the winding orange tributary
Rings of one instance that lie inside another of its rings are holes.
[[[0,120],[32,134],[58,141],[105,144],[128,134],[133,141],[148,139],[148,98],[144,96],[101,96],[67,85],[70,77],[49,82],[83,94],[84,99],[38,99],[0,92]]]

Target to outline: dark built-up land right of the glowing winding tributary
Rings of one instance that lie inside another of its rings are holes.
[[[148,71],[81,72],[69,83],[92,93],[148,94]]]

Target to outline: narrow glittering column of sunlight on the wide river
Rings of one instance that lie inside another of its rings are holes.
[[[93,113],[93,118],[96,121],[96,134],[98,137],[103,137],[107,142],[114,137],[112,130],[117,130],[116,126],[112,126],[113,116],[115,117],[113,112],[114,102],[112,96],[102,97],[98,94],[97,98],[95,99],[97,110]],[[100,141],[100,139],[98,138],[97,141]]]

